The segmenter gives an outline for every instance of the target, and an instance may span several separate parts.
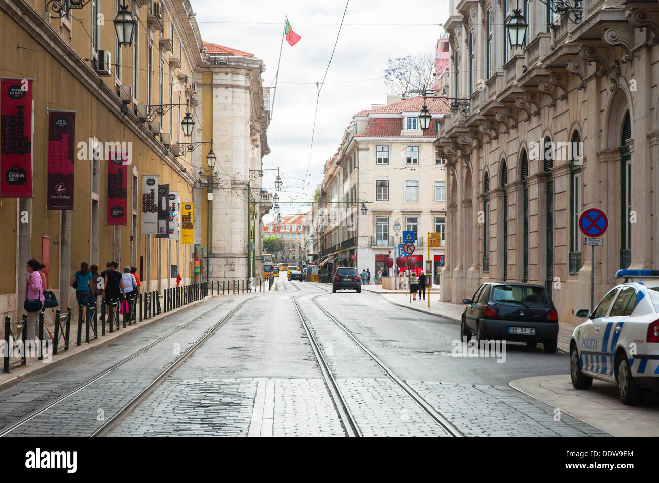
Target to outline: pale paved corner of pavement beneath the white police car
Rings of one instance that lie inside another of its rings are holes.
[[[580,391],[573,387],[569,374],[518,379],[509,385],[614,436],[659,436],[656,395],[647,395],[641,406],[625,406],[617,396],[616,385],[594,381],[590,389]]]

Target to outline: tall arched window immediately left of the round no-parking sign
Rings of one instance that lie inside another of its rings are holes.
[[[570,144],[570,254],[569,272],[571,275],[579,273],[582,266],[581,257],[581,230],[579,229],[579,216],[583,208],[583,178],[581,165],[583,164],[583,146],[581,135],[575,130]]]

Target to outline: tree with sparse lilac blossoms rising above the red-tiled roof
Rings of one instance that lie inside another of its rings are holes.
[[[415,92],[423,94],[431,90],[434,70],[434,56],[425,53],[387,59],[387,68],[382,73],[389,92],[405,98]]]

